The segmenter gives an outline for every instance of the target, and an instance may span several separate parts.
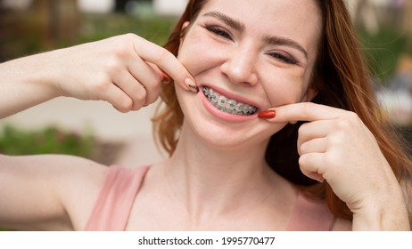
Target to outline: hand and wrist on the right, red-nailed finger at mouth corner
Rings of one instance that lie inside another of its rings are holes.
[[[357,114],[310,102],[274,109],[270,122],[309,121],[297,141],[301,171],[328,182],[354,213],[353,229],[410,229],[400,184]]]

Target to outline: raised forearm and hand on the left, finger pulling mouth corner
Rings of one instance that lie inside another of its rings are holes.
[[[157,100],[161,70],[188,89],[194,78],[177,58],[132,34],[0,64],[0,118],[58,96],[104,100],[121,112]]]

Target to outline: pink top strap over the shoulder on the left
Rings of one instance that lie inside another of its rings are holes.
[[[109,168],[86,230],[120,231],[126,229],[136,194],[149,166],[130,169],[112,165]]]

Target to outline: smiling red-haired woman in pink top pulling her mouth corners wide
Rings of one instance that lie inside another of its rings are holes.
[[[127,112],[160,95],[170,154],[133,170],[2,156],[1,226],[410,229],[411,164],[342,1],[189,1],[166,49],[126,35],[0,65],[0,116],[58,96]]]

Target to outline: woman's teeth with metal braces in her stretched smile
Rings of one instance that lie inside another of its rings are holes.
[[[236,100],[228,100],[224,95],[220,95],[214,92],[213,89],[204,86],[202,87],[204,96],[210,101],[210,103],[219,110],[228,114],[235,114],[240,116],[251,116],[258,111],[257,107],[237,102]]]

